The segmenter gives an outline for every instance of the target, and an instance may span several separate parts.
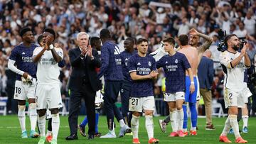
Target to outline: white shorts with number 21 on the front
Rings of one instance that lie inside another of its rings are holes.
[[[142,110],[154,111],[154,106],[155,106],[154,96],[129,98],[129,111],[137,111],[137,112],[142,112]]]

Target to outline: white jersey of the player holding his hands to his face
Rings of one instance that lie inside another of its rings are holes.
[[[63,50],[61,48],[54,48],[58,55],[63,58]],[[33,57],[38,55],[43,48],[37,47],[33,51]],[[53,54],[50,50],[46,50],[41,59],[37,63],[37,82],[38,84],[53,84],[59,83],[60,68],[58,67],[58,62],[54,60]]]

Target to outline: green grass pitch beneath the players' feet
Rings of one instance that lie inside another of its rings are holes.
[[[19,127],[18,117],[17,116],[0,116],[0,144],[36,144],[38,143],[39,138],[26,138],[21,139],[21,128]],[[79,116],[79,122],[82,121],[84,116]],[[220,143],[218,142],[218,136],[223,130],[223,124],[226,118],[213,118],[213,124],[215,125],[215,131],[206,131],[205,123],[206,118],[198,118],[198,135],[188,135],[185,138],[170,138],[168,137],[169,133],[171,133],[171,125],[169,124],[167,127],[167,133],[162,133],[159,128],[159,118],[164,117],[154,117],[154,137],[159,138],[159,143]],[[145,128],[145,119],[141,117],[139,120],[139,140],[140,142],[147,143],[147,133]],[[188,120],[189,121],[189,120]],[[188,123],[188,125],[190,125]],[[256,143],[256,118],[249,118],[249,133],[241,134],[245,140],[248,140],[249,143]],[[242,126],[242,121],[240,121],[240,128]],[[27,131],[30,129],[28,116],[26,117],[26,129]],[[86,129],[87,130],[87,129]],[[102,134],[107,133],[107,123],[106,117],[100,116],[99,122],[99,131]],[[116,135],[119,134],[119,124],[117,124]],[[28,131],[29,133],[29,131]],[[71,144],[82,144],[82,143],[95,143],[95,144],[113,144],[113,143],[132,143],[132,136],[125,135],[124,138],[108,138],[101,139],[95,138],[94,140],[87,140],[87,138],[82,137],[78,132],[78,140],[67,141],[65,137],[70,134],[68,127],[68,116],[60,116],[60,131],[58,135],[58,143],[71,143]],[[234,135],[228,135],[228,138],[235,143]]]

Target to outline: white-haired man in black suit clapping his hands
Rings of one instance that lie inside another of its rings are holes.
[[[78,48],[70,50],[70,64],[72,73],[68,87],[70,89],[70,112],[68,123],[70,135],[66,140],[78,139],[78,113],[81,99],[85,99],[88,118],[88,139],[93,139],[95,134],[95,94],[102,88],[100,79],[97,77],[96,67],[100,67],[100,57],[97,50],[88,46],[89,35],[85,32],[78,33]]]

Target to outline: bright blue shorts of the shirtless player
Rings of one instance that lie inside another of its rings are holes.
[[[190,80],[189,76],[186,76],[185,102],[196,103],[196,96],[197,96],[197,91],[198,91],[198,83],[197,83],[196,77],[193,77],[193,81],[195,83],[195,91],[191,94],[189,91],[189,87],[191,85],[191,80]]]

